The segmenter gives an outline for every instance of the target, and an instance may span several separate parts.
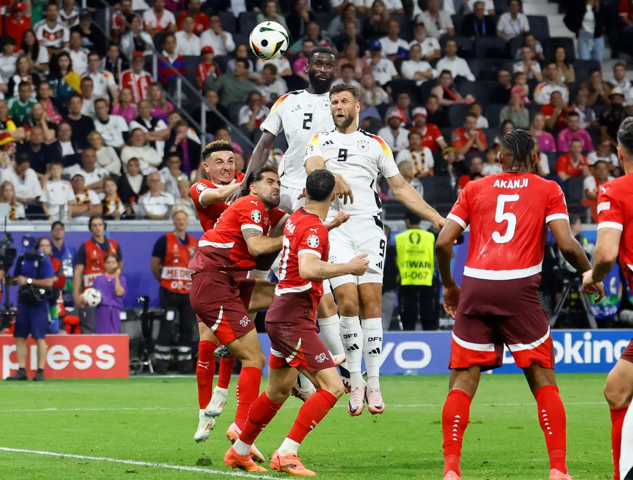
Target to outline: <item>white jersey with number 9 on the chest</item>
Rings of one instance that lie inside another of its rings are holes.
[[[341,175],[352,189],[354,203],[332,202],[328,216],[344,211],[350,215],[376,215],[382,211],[377,192],[378,175],[391,178],[400,172],[389,145],[365,130],[317,133],[306,146],[305,160],[323,157],[325,168]]]

